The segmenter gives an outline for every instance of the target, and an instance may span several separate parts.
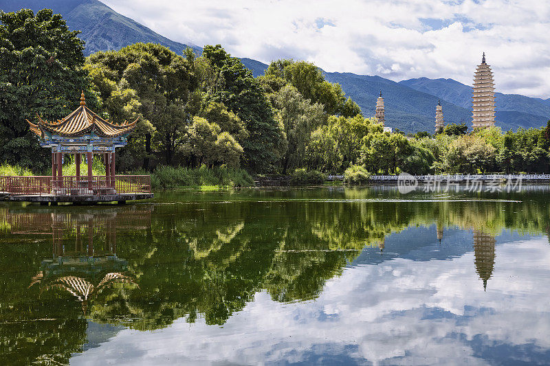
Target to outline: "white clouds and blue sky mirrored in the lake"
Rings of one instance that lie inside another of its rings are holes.
[[[533,343],[549,352],[546,240],[496,251],[486,293],[472,252],[430,262],[398,258],[348,268],[315,301],[280,304],[258,293],[223,328],[180,319],[152,333],[124,330],[72,363],[250,364],[342,355],[358,363],[476,365],[485,363],[474,356],[480,347]]]

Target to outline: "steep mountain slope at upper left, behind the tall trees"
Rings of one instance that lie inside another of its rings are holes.
[[[200,51],[196,45],[178,43],[161,36],[148,27],[118,14],[98,0],[0,0],[0,9],[14,12],[29,8],[37,12],[44,8],[63,15],[70,30],[80,30],[80,38],[86,41],[85,56],[97,51],[120,49],[137,42],[160,43],[181,54],[189,46]]]

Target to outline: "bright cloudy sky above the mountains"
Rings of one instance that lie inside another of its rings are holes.
[[[496,88],[550,98],[550,2],[503,0],[104,0],[174,41],[221,43],[263,62],[472,84],[481,53]]]

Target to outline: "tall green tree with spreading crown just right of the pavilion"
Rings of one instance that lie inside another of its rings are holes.
[[[144,133],[144,160],[149,168],[153,144],[168,165],[190,123],[186,111],[190,91],[196,89],[188,60],[162,45],[135,43],[120,51],[96,52],[87,59],[91,69],[104,69],[104,75],[120,89],[133,89],[140,102],[140,113],[151,122]]]

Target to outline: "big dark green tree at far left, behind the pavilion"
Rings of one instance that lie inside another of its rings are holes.
[[[0,21],[0,161],[44,170],[50,154],[25,119],[65,117],[83,90],[96,106],[83,70],[84,42],[52,10],[0,12]]]

